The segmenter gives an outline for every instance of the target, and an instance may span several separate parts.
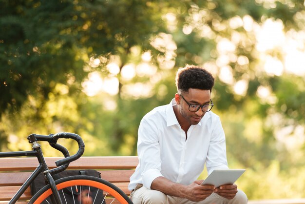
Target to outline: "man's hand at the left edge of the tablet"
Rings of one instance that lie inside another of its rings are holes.
[[[213,185],[201,185],[201,181],[194,181],[192,184],[188,185],[186,198],[190,201],[202,201],[210,196],[214,192]]]

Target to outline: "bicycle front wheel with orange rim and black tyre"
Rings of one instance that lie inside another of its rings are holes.
[[[63,204],[133,204],[114,184],[93,176],[69,176],[55,184]],[[50,185],[46,185],[29,204],[51,204],[52,195]]]

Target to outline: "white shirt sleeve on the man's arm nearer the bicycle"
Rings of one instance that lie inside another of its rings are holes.
[[[137,151],[143,186],[151,189],[152,181],[163,175],[157,124],[149,118],[143,118],[139,125]]]

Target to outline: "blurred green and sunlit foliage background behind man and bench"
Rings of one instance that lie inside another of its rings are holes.
[[[248,198],[305,197],[304,0],[0,5],[1,151],[65,131],[86,156],[136,155],[141,118],[174,97],[178,67],[196,64],[216,79],[213,112]],[[44,155],[60,156],[47,144]]]

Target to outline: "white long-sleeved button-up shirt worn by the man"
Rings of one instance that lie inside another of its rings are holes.
[[[146,114],[138,129],[139,164],[130,177],[129,190],[136,184],[151,189],[157,177],[174,183],[191,184],[203,171],[228,168],[226,139],[219,117],[210,112],[187,132],[181,129],[173,112],[176,102],[154,108]]]

